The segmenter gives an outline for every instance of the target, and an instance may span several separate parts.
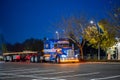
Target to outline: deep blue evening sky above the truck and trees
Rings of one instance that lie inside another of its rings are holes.
[[[55,38],[62,17],[84,14],[96,21],[120,0],[0,0],[0,34],[7,42]]]

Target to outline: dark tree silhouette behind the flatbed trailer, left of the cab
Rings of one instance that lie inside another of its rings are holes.
[[[24,50],[41,52],[43,50],[43,41],[34,38],[27,39],[23,43],[7,43],[6,45],[8,52],[21,52]]]

